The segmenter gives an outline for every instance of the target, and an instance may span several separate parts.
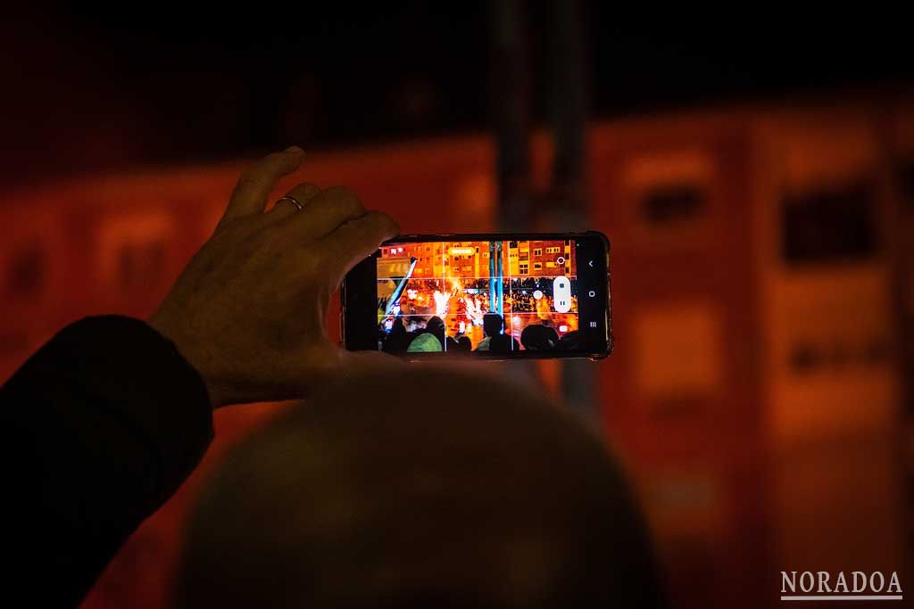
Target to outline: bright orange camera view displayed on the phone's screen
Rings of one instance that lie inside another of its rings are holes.
[[[399,243],[377,257],[385,352],[578,348],[572,240]]]

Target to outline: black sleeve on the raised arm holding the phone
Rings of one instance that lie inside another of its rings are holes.
[[[76,606],[213,436],[197,371],[140,320],[60,331],[0,389],[5,596]]]

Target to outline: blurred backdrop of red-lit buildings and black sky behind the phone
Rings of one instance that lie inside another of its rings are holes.
[[[0,377],[71,320],[149,315],[240,170],[294,143],[284,186],[348,185],[404,232],[610,236],[615,352],[534,372],[625,461],[676,607],[777,604],[781,571],[907,588],[909,24],[766,10],[9,9]],[[167,605],[199,479],[281,407],[216,413],[85,607]]]

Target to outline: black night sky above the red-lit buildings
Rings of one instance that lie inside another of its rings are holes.
[[[487,126],[482,2],[299,4],[294,13],[265,3],[137,6],[32,10],[0,26],[12,85],[0,119],[7,175],[48,154],[68,159],[66,172]],[[614,6],[588,5],[597,116],[904,84],[914,74],[900,18],[766,8],[656,22]],[[541,3],[529,13],[536,73],[548,24]],[[542,89],[535,76],[537,100]]]

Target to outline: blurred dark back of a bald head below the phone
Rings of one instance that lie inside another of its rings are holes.
[[[328,385],[235,451],[202,494],[176,593],[367,608],[651,606],[658,591],[585,427],[494,377],[407,366]]]

